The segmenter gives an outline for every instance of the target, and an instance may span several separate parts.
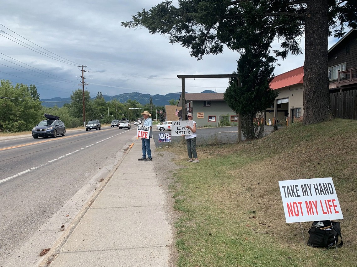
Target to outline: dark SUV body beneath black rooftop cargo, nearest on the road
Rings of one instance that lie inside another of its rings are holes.
[[[61,120],[44,120],[32,128],[32,137],[57,137],[66,135],[66,127]]]

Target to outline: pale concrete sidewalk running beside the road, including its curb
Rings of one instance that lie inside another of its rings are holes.
[[[141,156],[141,140],[135,138],[39,266],[169,265],[172,232],[154,171],[155,157],[138,161]]]

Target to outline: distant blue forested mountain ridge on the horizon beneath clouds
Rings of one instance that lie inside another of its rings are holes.
[[[201,93],[215,93],[215,91],[205,90]],[[189,94],[189,93],[186,92],[186,94]],[[103,97],[104,97],[105,101],[111,101],[114,99],[117,99],[120,102],[125,102],[128,99],[136,100],[142,105],[149,103],[150,97],[152,97],[152,103],[155,106],[165,106],[165,105],[169,105],[169,101],[171,99],[178,100],[180,98],[180,95],[181,95],[181,92],[170,93],[170,94],[166,94],[166,95],[159,95],[159,94],[150,95],[150,94],[141,94],[138,92],[132,92],[132,93],[119,94],[119,95],[115,95],[115,96],[103,95]],[[92,97],[91,99],[95,99],[95,97]],[[71,98],[70,97],[66,97],[66,98],[54,97],[51,99],[40,99],[40,101],[42,101],[42,106],[54,107],[55,105],[57,105],[57,107],[62,107],[65,103],[70,103]]]

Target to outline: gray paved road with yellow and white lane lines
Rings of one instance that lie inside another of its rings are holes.
[[[72,221],[135,135],[136,129],[103,127],[1,140],[0,266],[36,266],[40,251],[60,237],[61,226]]]

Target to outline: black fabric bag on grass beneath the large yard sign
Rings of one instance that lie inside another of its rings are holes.
[[[307,245],[311,247],[336,247],[338,236],[341,237],[341,242],[337,247],[342,247],[343,245],[340,222],[315,221],[312,223],[309,234]]]

